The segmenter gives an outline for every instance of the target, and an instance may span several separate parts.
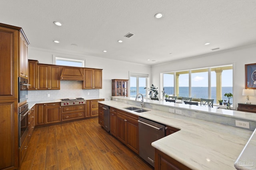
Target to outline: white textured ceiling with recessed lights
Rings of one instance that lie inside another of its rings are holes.
[[[256,43],[256,0],[0,0],[0,23],[30,47],[153,65]]]

